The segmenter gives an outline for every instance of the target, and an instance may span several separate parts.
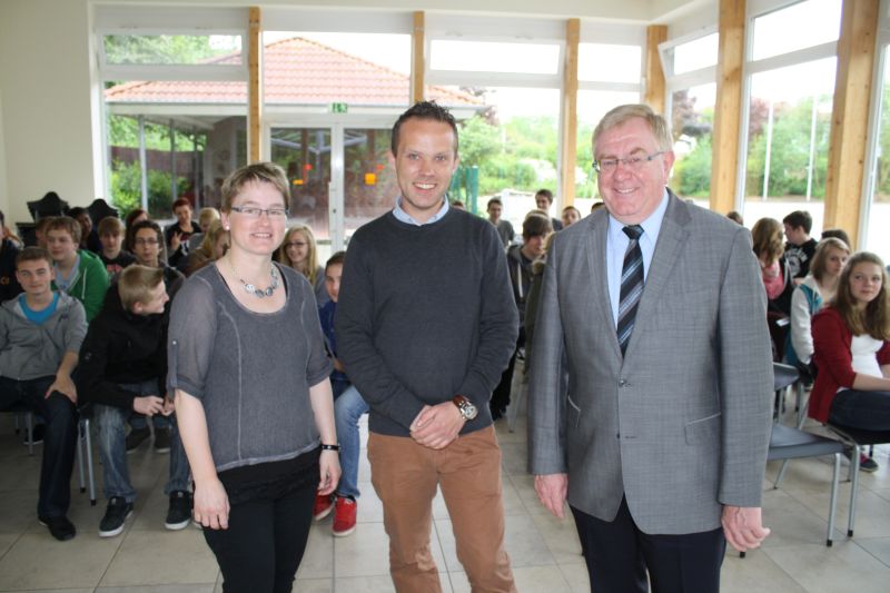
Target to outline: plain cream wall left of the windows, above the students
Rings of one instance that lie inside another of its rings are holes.
[[[8,224],[30,220],[26,201],[50,189],[72,206],[101,192],[93,180],[88,16],[88,0],[0,2]]]

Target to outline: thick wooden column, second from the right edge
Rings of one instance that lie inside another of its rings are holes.
[[[720,0],[720,50],[716,65],[711,209],[721,214],[735,209],[739,135],[742,119],[744,12],[744,0]]]

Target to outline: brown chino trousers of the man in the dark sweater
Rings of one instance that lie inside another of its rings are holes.
[[[442,592],[429,552],[436,485],[473,592],[516,592],[504,551],[501,449],[493,426],[459,436],[441,451],[411,437],[370,433],[368,459],[383,501],[389,572],[398,593]]]

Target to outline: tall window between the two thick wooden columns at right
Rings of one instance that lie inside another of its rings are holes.
[[[840,6],[808,0],[752,19],[741,179],[749,224],[807,210],[821,231]]]

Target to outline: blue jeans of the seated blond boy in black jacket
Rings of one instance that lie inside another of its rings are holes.
[[[121,384],[122,388],[135,392],[140,396],[157,395],[158,382],[146,380],[142,383]],[[93,419],[98,431],[99,455],[102,459],[102,480],[105,481],[106,498],[122,496],[128,503],[136,500],[136,490],[130,483],[127,468],[127,437],[126,424],[132,416],[129,408],[95,404]],[[172,417],[172,416],[171,416]],[[171,423],[172,438],[170,441],[170,476],[164,493],[169,495],[175,491],[188,491],[188,458],[179,438],[176,423]]]

